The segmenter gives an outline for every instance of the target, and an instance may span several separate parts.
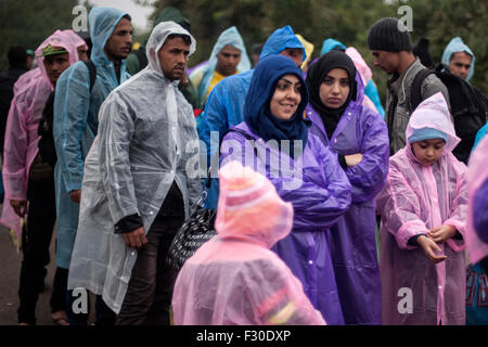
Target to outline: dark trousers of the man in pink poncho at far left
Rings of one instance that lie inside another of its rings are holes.
[[[17,320],[36,324],[36,305],[39,290],[50,261],[49,246],[56,219],[54,180],[29,181],[27,226],[23,230],[23,255],[18,285],[20,307]],[[65,310],[67,270],[57,268],[51,296],[51,311]]]

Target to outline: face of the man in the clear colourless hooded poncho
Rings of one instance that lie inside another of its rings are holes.
[[[190,46],[181,37],[167,39],[157,52],[160,69],[169,80],[181,79],[187,66]]]

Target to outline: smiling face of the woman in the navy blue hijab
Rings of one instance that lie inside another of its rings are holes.
[[[290,119],[301,101],[301,82],[295,75],[284,75],[278,80],[269,104],[271,114],[279,119]]]

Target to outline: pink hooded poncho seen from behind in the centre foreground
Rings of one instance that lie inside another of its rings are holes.
[[[325,324],[301,283],[270,250],[293,224],[271,182],[231,162],[219,170],[217,235],[184,264],[175,284],[177,325]]]

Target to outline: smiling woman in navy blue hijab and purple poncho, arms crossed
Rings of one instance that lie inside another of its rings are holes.
[[[308,131],[307,103],[301,70],[291,59],[261,60],[244,104],[244,121],[223,138],[220,165],[239,160],[252,167],[293,204],[292,232],[272,250],[300,280],[328,324],[344,324],[328,228],[349,207],[350,184],[336,155]]]

